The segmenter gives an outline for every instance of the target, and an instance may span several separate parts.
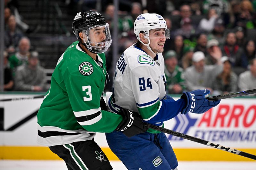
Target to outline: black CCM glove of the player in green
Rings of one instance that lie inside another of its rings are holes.
[[[123,116],[123,120],[115,130],[123,132],[125,136],[132,137],[148,130],[138,113],[122,108],[119,114]]]

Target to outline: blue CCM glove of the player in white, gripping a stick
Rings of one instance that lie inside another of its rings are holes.
[[[181,114],[188,113],[204,113],[210,108],[217,106],[220,100],[209,101],[205,99],[205,95],[209,94],[210,90],[194,90],[192,92],[183,92],[180,99],[185,99],[186,106],[181,110]]]

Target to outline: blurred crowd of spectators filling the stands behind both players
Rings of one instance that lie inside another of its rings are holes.
[[[107,0],[64,0],[71,11],[102,13],[113,32],[115,6]],[[118,53],[136,40],[134,20],[142,13],[164,17],[171,39],[164,45],[167,93],[209,89],[219,95],[256,88],[256,0],[120,0]],[[5,0],[5,90],[45,91],[45,72],[30,49],[30,28],[15,0]],[[70,21],[71,23],[71,21]],[[70,24],[71,25],[71,24]],[[112,66],[107,51],[108,71]],[[111,74],[111,73],[110,73]],[[111,78],[112,76],[110,76]],[[111,90],[108,83],[107,91]]]

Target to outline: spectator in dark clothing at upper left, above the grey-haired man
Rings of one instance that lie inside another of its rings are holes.
[[[16,27],[16,21],[14,15],[11,15],[7,22],[7,29],[4,35],[4,44],[8,53],[14,53],[18,47],[23,33]]]

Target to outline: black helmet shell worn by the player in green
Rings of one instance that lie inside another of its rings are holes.
[[[105,18],[96,11],[78,12],[72,22],[72,30],[77,40],[81,40],[79,33],[92,26],[105,25]]]

